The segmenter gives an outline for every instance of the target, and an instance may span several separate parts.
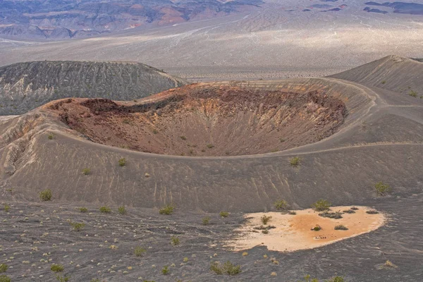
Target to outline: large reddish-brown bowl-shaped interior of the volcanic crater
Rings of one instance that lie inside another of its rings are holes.
[[[133,102],[62,99],[47,109],[93,142],[154,154],[240,156],[299,147],[347,115],[324,92],[188,85]]]

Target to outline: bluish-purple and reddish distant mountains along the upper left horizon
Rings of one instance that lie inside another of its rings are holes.
[[[0,35],[27,39],[87,37],[226,16],[260,4],[261,0],[2,0]]]

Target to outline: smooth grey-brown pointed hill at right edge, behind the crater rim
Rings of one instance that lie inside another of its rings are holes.
[[[402,94],[415,93],[416,97],[423,95],[423,63],[417,59],[386,56],[331,77]]]

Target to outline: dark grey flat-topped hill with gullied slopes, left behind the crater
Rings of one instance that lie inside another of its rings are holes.
[[[32,61],[0,68],[0,115],[23,114],[51,100],[132,100],[185,85],[142,63]]]

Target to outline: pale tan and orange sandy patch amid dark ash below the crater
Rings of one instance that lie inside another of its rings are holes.
[[[338,240],[350,238],[374,231],[386,220],[384,214],[367,214],[368,207],[357,207],[355,214],[342,214],[342,219],[329,219],[319,216],[313,209],[295,211],[297,214],[281,214],[280,212],[245,214],[247,223],[236,231],[240,235],[228,243],[234,250],[246,250],[257,245],[265,245],[268,250],[291,252],[328,245]],[[344,211],[350,207],[331,207],[331,212]],[[271,216],[267,225],[263,225],[261,217]],[[312,231],[319,225],[320,231]],[[335,230],[335,226],[343,225],[346,231]],[[259,226],[274,226],[268,234],[256,230]]]

